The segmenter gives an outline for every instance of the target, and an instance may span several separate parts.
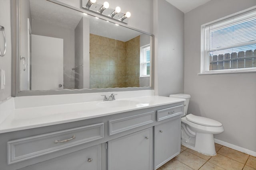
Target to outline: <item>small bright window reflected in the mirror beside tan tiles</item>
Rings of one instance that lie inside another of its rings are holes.
[[[150,45],[140,47],[140,76],[150,76]]]

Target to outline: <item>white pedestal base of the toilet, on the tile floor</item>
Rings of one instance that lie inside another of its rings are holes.
[[[216,150],[214,145],[213,134],[196,133],[195,143],[186,143],[186,140],[181,140],[182,145],[195,150],[199,153],[215,156]]]

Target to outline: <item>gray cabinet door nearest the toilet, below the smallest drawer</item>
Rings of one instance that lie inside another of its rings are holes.
[[[157,169],[180,153],[180,117],[154,128],[154,168]]]

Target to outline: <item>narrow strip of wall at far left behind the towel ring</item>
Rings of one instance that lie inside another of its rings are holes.
[[[6,35],[6,55],[0,57],[0,69],[5,70],[6,74],[6,85],[4,90],[0,90],[0,102],[11,96],[11,21],[10,21],[10,1],[0,0],[0,25],[4,27]],[[0,32],[0,34],[2,34]],[[3,49],[3,39],[0,35],[0,47]]]

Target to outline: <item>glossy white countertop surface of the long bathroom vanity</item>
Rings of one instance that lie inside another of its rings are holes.
[[[131,103],[129,106],[121,107],[108,107],[109,103],[106,103],[116,101],[117,104],[122,104],[122,102],[118,102],[121,100],[124,100],[123,102],[131,101]],[[73,121],[80,121],[95,117],[113,115],[125,111],[133,111],[137,109],[162,106],[177,102],[184,102],[185,100],[163,96],[143,96],[133,98],[122,98],[115,101],[94,101],[17,108],[14,109],[12,113],[10,113],[2,123],[0,123],[0,133],[43,127],[48,125],[56,125],[60,123],[68,123]]]

